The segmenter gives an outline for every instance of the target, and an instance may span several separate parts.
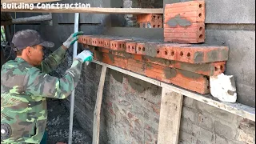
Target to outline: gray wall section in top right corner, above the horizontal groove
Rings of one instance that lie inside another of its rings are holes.
[[[163,4],[187,1],[190,0],[163,0]],[[206,0],[206,23],[255,24],[255,1]]]

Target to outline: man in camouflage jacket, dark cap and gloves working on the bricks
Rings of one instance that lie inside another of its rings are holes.
[[[71,34],[62,46],[43,59],[43,47],[54,47],[35,30],[14,34],[17,58],[1,70],[1,143],[40,143],[46,130],[46,98],[67,98],[78,84],[82,63],[93,54],[84,50],[62,78],[49,75],[66,58],[66,50],[82,32]]]

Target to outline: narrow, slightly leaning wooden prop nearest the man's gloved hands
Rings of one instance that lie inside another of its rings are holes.
[[[102,94],[103,94],[105,77],[106,77],[106,66],[102,66],[102,74],[101,74],[101,78],[98,85],[97,100],[96,100],[96,105],[94,109],[93,144],[98,144],[98,139],[99,139]]]

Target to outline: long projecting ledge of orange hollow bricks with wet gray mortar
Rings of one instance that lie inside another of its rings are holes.
[[[210,93],[209,78],[224,72],[226,46],[194,46],[132,38],[83,35],[78,38],[94,59],[199,94]]]

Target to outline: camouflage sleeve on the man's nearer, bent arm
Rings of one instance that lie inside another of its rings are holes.
[[[64,99],[78,85],[81,70],[82,62],[78,60],[73,62],[62,78],[52,77],[37,68],[32,68],[26,74],[24,90],[26,94],[34,96]]]

